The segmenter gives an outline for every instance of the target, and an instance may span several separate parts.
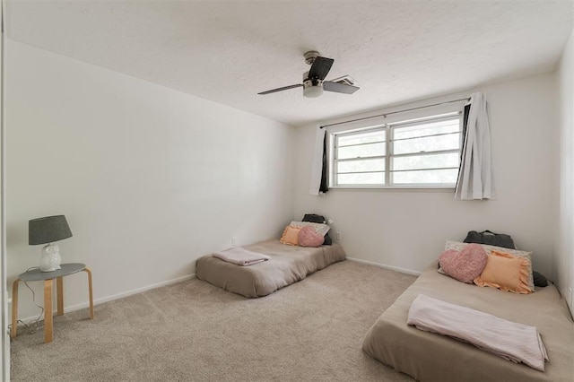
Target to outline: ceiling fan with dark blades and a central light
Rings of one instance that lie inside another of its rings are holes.
[[[356,83],[351,77],[344,77],[334,81],[325,81],[326,74],[331,70],[335,62],[333,58],[319,56],[319,52],[314,50],[305,53],[305,62],[311,65],[309,72],[303,74],[303,83],[283,86],[283,88],[272,89],[270,91],[261,91],[260,95],[274,93],[276,91],[286,91],[289,89],[303,87],[303,96],[312,98],[323,94],[323,91],[335,91],[336,93],[352,94],[359,90],[354,86]]]

